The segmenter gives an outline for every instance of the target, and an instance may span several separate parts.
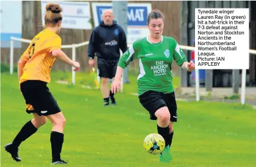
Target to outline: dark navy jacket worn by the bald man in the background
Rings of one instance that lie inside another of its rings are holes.
[[[106,26],[103,21],[94,27],[88,45],[88,57],[105,60],[119,59],[120,51],[127,51],[126,34],[121,26],[113,21],[112,26]]]

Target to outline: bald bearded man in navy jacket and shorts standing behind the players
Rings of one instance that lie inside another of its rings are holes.
[[[121,26],[113,20],[112,10],[105,10],[99,26],[94,27],[88,45],[89,65],[95,65],[94,56],[98,57],[99,77],[102,79],[101,93],[104,105],[116,104],[114,94],[108,87],[108,79],[115,77],[116,68],[120,57],[120,49],[127,50],[126,34]]]

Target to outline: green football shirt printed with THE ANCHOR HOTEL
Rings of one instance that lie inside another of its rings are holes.
[[[121,55],[118,66],[126,68],[135,59],[139,59],[140,63],[140,74],[137,78],[139,96],[149,90],[173,92],[172,60],[179,66],[187,61],[177,41],[165,36],[162,36],[160,43],[151,43],[148,37],[133,42]]]

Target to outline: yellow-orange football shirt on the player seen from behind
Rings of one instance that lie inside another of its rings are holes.
[[[44,29],[38,33],[21,55],[21,59],[27,63],[23,68],[20,83],[26,80],[41,80],[49,83],[52,65],[56,59],[51,52],[60,49],[61,46],[62,39],[51,30]]]

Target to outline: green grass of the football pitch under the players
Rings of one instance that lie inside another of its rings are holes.
[[[255,166],[256,111],[249,106],[218,102],[178,101],[172,155],[166,165],[143,149],[143,140],[156,133],[155,121],[140,105],[136,76],[116,94],[118,105],[103,107],[101,92],[81,88],[91,83],[87,73],[77,73],[77,86],[55,83],[71,74],[53,73],[49,84],[66,117],[62,158],[68,166]],[[179,79],[174,79],[176,87]],[[51,145],[48,121],[20,146],[21,163],[12,160],[4,144],[13,140],[31,119],[24,110],[17,75],[1,74],[1,166],[49,166]]]

